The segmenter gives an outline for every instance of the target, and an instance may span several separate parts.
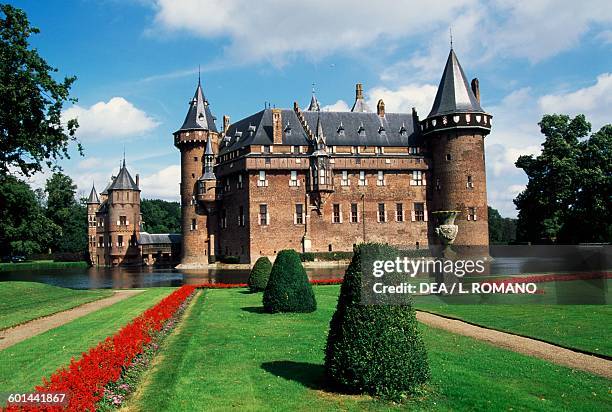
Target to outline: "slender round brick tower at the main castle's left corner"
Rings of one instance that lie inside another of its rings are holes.
[[[205,156],[207,143],[213,154]],[[174,145],[181,151],[181,265],[207,264],[215,255],[214,199],[212,203],[198,201],[198,182],[204,176],[205,158],[212,161],[217,153],[219,133],[199,80],[185,121],[174,132]],[[216,179],[212,181],[216,186]]]

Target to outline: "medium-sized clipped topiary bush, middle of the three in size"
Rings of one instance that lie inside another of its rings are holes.
[[[317,309],[312,286],[295,250],[281,250],[276,255],[264,291],[263,306],[269,313],[313,312]]]

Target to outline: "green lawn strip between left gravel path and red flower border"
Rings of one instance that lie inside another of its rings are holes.
[[[56,369],[119,330],[173,288],[148,289],[0,351],[0,393],[28,392]]]

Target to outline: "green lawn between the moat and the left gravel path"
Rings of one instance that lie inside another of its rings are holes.
[[[0,329],[112,294],[110,290],[73,290],[36,282],[0,282]]]

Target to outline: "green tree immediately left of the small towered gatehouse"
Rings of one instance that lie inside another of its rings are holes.
[[[54,251],[84,253],[87,250],[87,206],[76,200],[72,178],[54,173],[45,185],[47,217],[61,228]]]

